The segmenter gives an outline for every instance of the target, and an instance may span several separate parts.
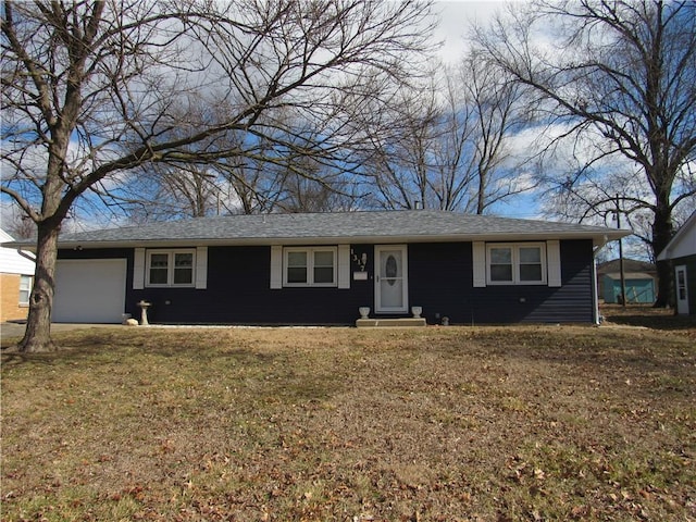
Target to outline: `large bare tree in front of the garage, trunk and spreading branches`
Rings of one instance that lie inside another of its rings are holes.
[[[53,348],[58,235],[80,196],[149,162],[234,158],[239,150],[217,147],[228,133],[286,146],[271,132],[283,108],[326,129],[326,142],[338,139],[348,127],[334,102],[346,94],[374,100],[386,94],[369,91],[375,77],[406,78],[403,64],[426,47],[430,7],[36,0],[5,1],[0,15],[1,189],[37,224],[20,345],[35,351]],[[211,110],[187,110],[198,105]]]

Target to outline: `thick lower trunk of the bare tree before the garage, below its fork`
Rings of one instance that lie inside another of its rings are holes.
[[[29,299],[29,315],[20,351],[37,352],[57,349],[51,340],[51,310],[55,288],[55,259],[60,221],[51,220],[38,225],[36,271]]]

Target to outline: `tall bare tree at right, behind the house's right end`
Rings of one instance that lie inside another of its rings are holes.
[[[534,89],[549,128],[561,129],[555,145],[573,142],[576,167],[545,179],[555,198],[583,219],[614,212],[619,194],[623,214],[648,212],[655,257],[674,209],[696,194],[695,21],[692,1],[542,0],[477,37],[492,66]],[[669,266],[658,275],[664,306]]]

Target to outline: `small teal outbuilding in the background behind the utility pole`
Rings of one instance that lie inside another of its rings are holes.
[[[623,260],[623,276],[626,288],[626,302],[655,302],[657,269],[655,264],[635,259]],[[597,265],[599,298],[605,302],[621,302],[621,266],[613,259]]]

